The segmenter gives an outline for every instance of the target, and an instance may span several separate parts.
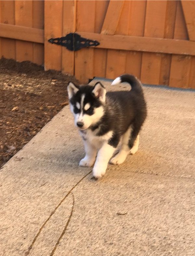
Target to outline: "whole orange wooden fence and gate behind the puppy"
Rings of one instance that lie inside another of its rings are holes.
[[[195,1],[0,1],[0,56],[75,75],[195,88]],[[100,45],[71,52],[76,32]]]

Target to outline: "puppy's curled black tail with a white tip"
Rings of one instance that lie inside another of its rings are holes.
[[[111,83],[111,85],[115,85],[115,84],[119,84],[119,83],[129,83],[131,85],[131,90],[135,91],[137,93],[142,93],[142,86],[141,86],[141,82],[133,75],[129,75],[129,74],[124,74],[121,75],[119,77],[117,77],[116,79],[114,79],[114,81]]]

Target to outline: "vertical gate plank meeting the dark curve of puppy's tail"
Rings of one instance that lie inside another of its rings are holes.
[[[146,1],[130,1],[130,12],[128,22],[128,35],[140,36],[144,35],[144,23],[146,13]],[[128,51],[126,55],[125,73],[135,75],[140,79],[142,53]]]

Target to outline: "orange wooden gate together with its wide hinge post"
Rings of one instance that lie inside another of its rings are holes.
[[[100,43],[70,52],[45,42],[46,68],[81,82],[127,72],[142,83],[195,88],[195,1],[45,1],[45,13],[45,40],[62,31]]]

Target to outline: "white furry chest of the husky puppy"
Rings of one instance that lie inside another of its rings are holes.
[[[101,147],[102,143],[108,142],[112,137],[113,131],[108,131],[102,136],[97,136],[96,134],[97,134],[97,131],[94,131],[94,132],[91,130],[86,130],[82,132],[80,131],[80,135],[82,136],[82,138],[96,147]]]

